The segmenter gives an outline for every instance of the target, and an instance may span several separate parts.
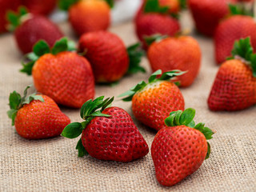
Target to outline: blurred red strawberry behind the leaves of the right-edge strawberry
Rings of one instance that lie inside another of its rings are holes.
[[[256,23],[254,18],[246,15],[236,15],[238,10],[234,9],[234,16],[226,18],[217,27],[214,34],[215,59],[217,63],[226,61],[230,56],[234,42],[240,38],[250,37],[252,46],[256,50]]]

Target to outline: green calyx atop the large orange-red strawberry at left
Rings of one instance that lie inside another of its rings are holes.
[[[34,63],[38,60],[38,58],[42,57],[44,54],[59,54],[63,51],[73,51],[75,49],[75,43],[72,41],[68,41],[67,38],[61,38],[57,42],[55,42],[54,46],[50,49],[50,46],[44,40],[39,40],[34,44],[33,52],[25,55],[25,59],[29,62],[22,62],[22,70],[23,73],[28,75],[32,74],[32,68]]]

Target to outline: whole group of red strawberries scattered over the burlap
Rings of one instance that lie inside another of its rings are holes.
[[[214,36],[216,62],[223,62],[210,91],[209,109],[243,110],[256,104],[256,25],[242,1],[188,0],[186,5],[182,0],[143,0],[134,18],[141,43],[128,48],[118,35],[107,31],[114,6],[111,0],[58,2],[68,12],[78,45],[42,15],[49,14],[56,1],[1,3],[0,31],[6,29],[7,18],[7,29],[14,31],[18,48],[25,54],[21,72],[32,75],[40,93],[28,95],[27,86],[23,96],[16,91],[10,94],[7,114],[23,138],[81,135],[76,146],[79,157],[90,154],[118,162],[145,157],[149,146],[130,114],[111,106],[114,97],[94,99],[94,88],[146,72],[139,65],[146,51],[154,73],[148,82],[138,82],[119,97],[132,102],[138,121],[157,131],[151,156],[159,183],[173,186],[198,170],[210,157],[206,140],[214,131],[203,122],[194,122],[195,110],[185,110],[178,88],[196,83],[202,60],[197,40],[180,30],[179,12],[186,6],[197,30]],[[6,10],[13,11],[5,18]],[[70,123],[58,105],[80,108],[82,122]]]

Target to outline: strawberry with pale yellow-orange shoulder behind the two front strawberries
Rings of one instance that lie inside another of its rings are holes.
[[[165,126],[164,119],[170,112],[184,110],[184,98],[181,91],[173,82],[168,81],[178,75],[184,74],[180,70],[173,70],[162,74],[162,70],[154,72],[149,83],[142,81],[119,97],[127,96],[124,102],[132,101],[132,110],[135,118],[154,130]]]

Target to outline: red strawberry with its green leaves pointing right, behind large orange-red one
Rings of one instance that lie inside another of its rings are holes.
[[[122,39],[116,34],[107,31],[83,34],[78,47],[89,60],[96,82],[116,82],[126,73],[145,72],[139,66],[143,55],[139,45],[126,50]]]

